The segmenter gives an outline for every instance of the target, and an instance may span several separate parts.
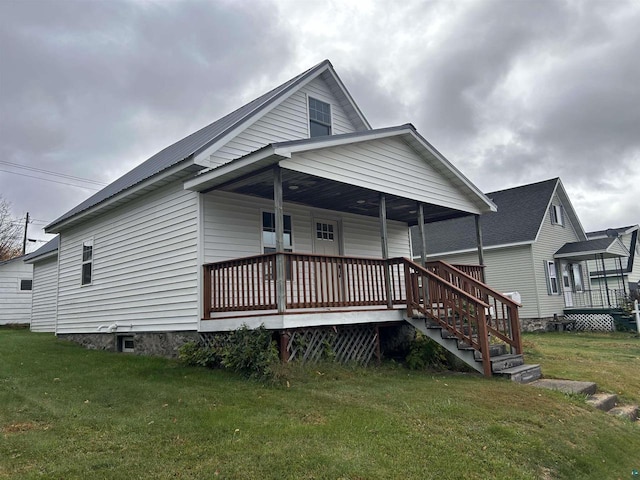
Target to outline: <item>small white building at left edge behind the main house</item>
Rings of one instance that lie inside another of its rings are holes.
[[[0,325],[29,323],[33,268],[23,260],[0,262]]]

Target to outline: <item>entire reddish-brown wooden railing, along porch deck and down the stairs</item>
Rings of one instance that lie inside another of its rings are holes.
[[[281,271],[286,277],[280,288],[278,261],[284,263]],[[204,265],[203,319],[222,312],[405,305],[410,315],[437,322],[480,351],[483,360],[487,357],[485,369],[490,369],[489,335],[508,344],[513,353],[522,353],[519,305],[478,281],[478,266],[465,270],[445,262],[430,262],[424,268],[405,258],[298,253],[228,260]]]

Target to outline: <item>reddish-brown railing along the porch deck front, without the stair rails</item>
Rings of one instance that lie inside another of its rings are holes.
[[[388,306],[389,298],[391,305],[405,303],[402,259],[280,255],[285,262],[286,309]],[[277,256],[271,253],[205,265],[204,318],[211,318],[211,312],[277,309]]]

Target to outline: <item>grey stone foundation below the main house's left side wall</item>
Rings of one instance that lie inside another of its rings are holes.
[[[79,343],[90,350],[175,358],[182,345],[198,341],[198,332],[69,333],[58,334],[58,338]]]

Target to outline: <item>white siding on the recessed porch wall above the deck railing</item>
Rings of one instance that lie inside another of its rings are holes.
[[[204,199],[204,261],[205,263],[247,257],[262,253],[262,211],[273,211],[273,202],[225,192],[205,194]],[[293,249],[299,253],[313,252],[313,220],[329,219],[339,223],[344,255],[381,258],[380,224],[377,218],[330,210],[310,209],[284,204],[284,213],[291,215]],[[406,224],[388,222],[389,255],[410,255]]]

